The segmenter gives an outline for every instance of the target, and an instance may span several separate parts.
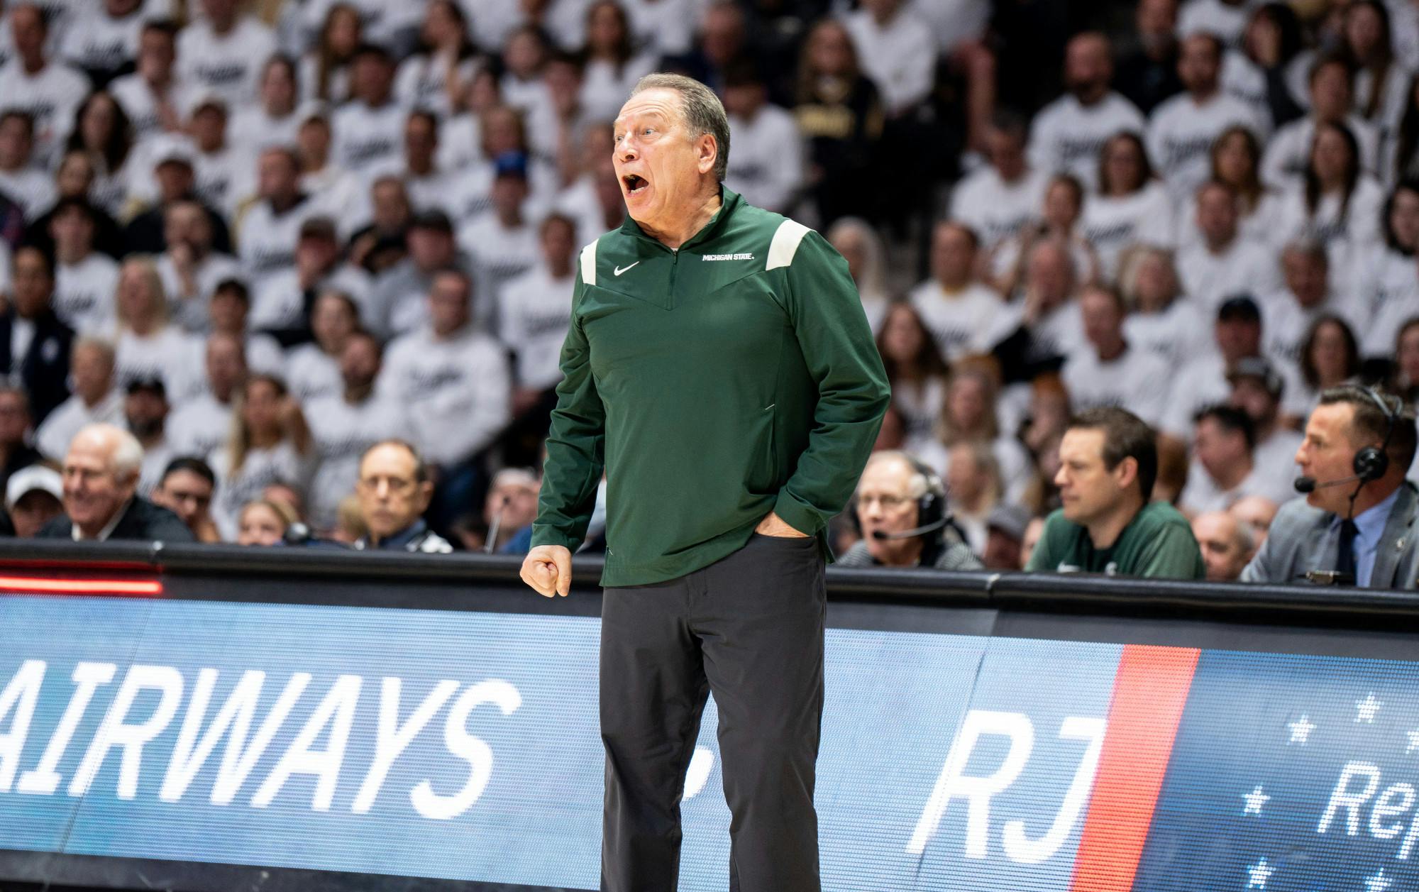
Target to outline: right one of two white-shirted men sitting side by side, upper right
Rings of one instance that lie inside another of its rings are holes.
[[[1158,107],[1148,122],[1148,152],[1175,199],[1183,200],[1208,180],[1209,152],[1230,126],[1266,134],[1256,111],[1222,89],[1222,41],[1215,34],[1182,38],[1178,77],[1186,92]]]

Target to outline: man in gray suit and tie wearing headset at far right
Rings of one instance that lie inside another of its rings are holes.
[[[1345,385],[1321,393],[1296,452],[1305,499],[1281,506],[1243,582],[1415,588],[1419,490],[1405,480],[1415,419],[1396,396]]]

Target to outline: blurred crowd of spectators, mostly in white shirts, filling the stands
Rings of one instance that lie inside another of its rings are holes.
[[[1071,419],[1122,408],[1236,578],[1324,392],[1419,396],[1410,0],[9,0],[16,533],[85,432],[203,541],[525,548],[656,70],[722,97],[729,189],[847,259],[894,393],[863,494],[939,477],[928,564],[1026,565]]]

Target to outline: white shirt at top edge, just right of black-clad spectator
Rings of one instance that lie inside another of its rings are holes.
[[[877,85],[890,111],[911,108],[927,98],[935,77],[937,44],[928,24],[911,9],[901,9],[885,26],[858,10],[843,26],[857,48],[863,74]]]

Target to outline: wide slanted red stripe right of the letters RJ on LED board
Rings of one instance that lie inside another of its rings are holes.
[[[1132,889],[1200,653],[1195,648],[1124,646],[1074,858],[1074,892]]]

